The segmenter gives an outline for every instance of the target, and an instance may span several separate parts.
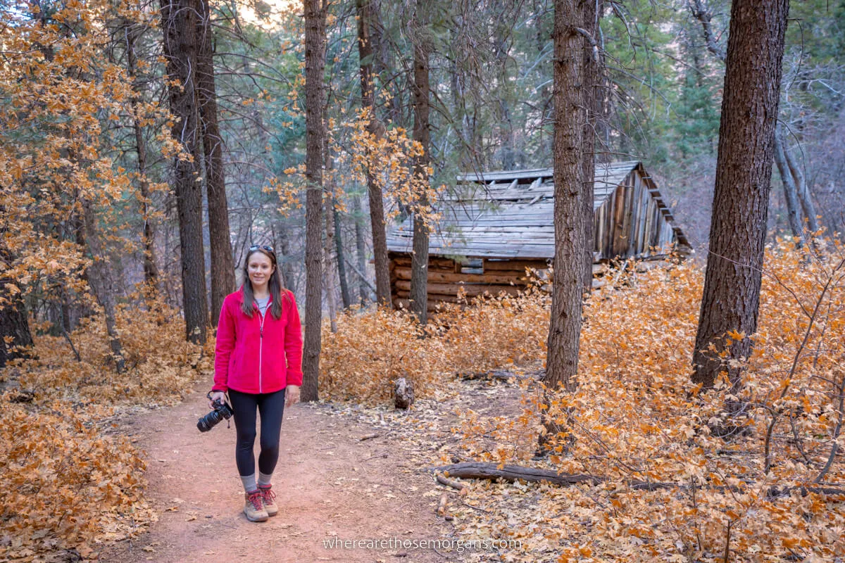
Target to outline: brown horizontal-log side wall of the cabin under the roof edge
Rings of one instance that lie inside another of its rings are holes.
[[[390,252],[390,296],[393,306],[410,309],[411,257]],[[461,264],[444,257],[428,258],[428,310],[438,303],[457,303],[458,292],[467,297],[503,292],[516,295],[526,288],[526,267],[546,269],[545,260],[488,260],[484,259],[484,273],[461,273]]]

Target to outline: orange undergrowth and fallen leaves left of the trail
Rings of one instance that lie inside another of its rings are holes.
[[[68,338],[36,335],[33,357],[0,371],[0,561],[95,557],[103,542],[155,522],[143,455],[110,420],[138,404],[177,403],[210,369],[213,342],[186,343],[177,317],[161,302],[123,307],[117,328],[133,338],[122,374],[110,365],[103,317]]]

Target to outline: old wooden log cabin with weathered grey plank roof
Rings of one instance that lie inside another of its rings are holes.
[[[554,257],[553,170],[458,176],[455,194],[439,200],[440,219],[428,246],[428,306],[467,297],[515,295],[526,268],[547,269]],[[595,263],[659,257],[669,246],[690,249],[651,176],[639,161],[596,165]],[[409,308],[412,219],[390,229],[390,292]]]

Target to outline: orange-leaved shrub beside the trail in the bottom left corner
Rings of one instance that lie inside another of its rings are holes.
[[[60,405],[27,412],[0,398],[0,558],[119,538],[152,517],[144,461]]]

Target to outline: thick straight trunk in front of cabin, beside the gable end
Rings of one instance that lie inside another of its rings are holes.
[[[585,256],[584,38],[576,31],[583,21],[583,4],[582,0],[554,3],[554,276],[544,382],[569,391],[575,389],[578,370]]]

